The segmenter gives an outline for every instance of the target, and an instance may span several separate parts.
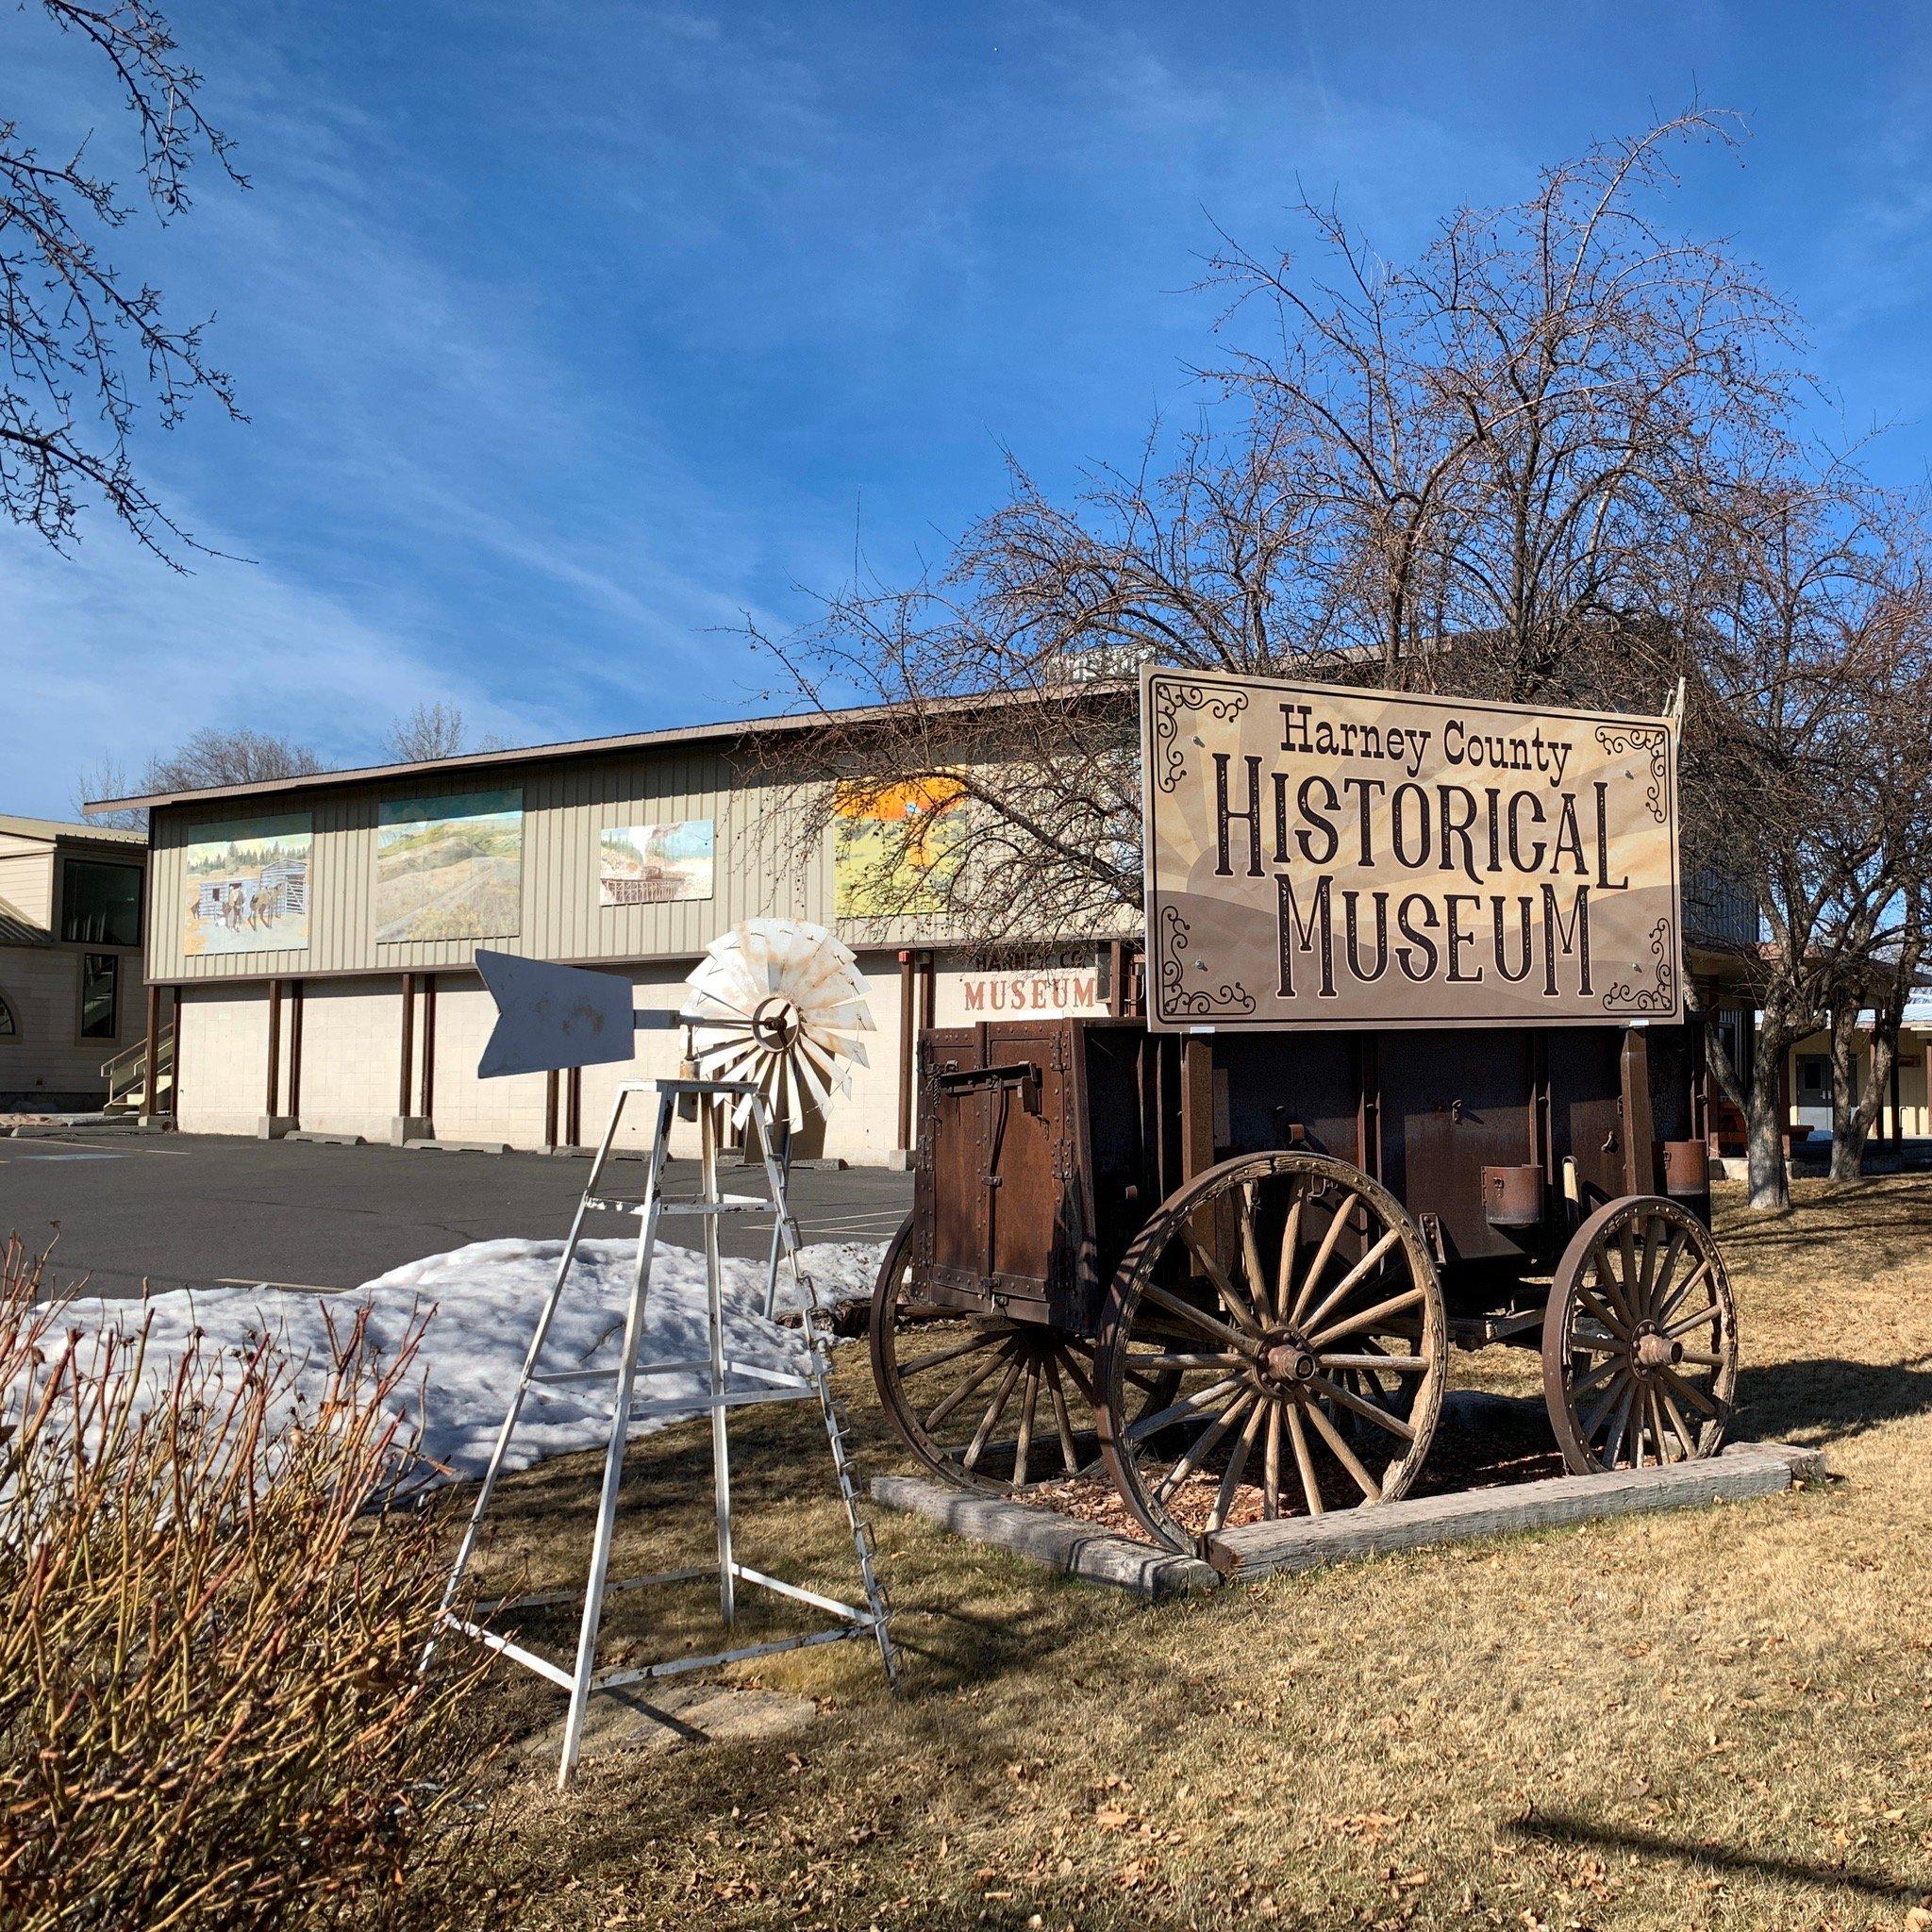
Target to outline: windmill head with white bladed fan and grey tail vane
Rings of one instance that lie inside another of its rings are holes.
[[[551,1072],[628,1061],[634,1034],[682,1026],[705,1080],[742,1082],[732,1101],[742,1126],[759,1094],[773,1121],[794,1132],[835,1094],[852,1092],[867,1066],[871,1032],[866,981],[844,941],[802,920],[742,920],[715,939],[686,980],[676,1012],[638,1012],[630,983],[580,966],[551,966],[510,952],[477,951],[477,970],[497,1001],[497,1026],[477,1074]]]

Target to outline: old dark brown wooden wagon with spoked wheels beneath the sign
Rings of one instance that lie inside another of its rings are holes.
[[[1642,782],[1646,755],[1611,753],[1613,777]],[[1225,804],[1204,838],[1235,877]],[[1202,931],[1213,885],[1186,900]],[[1150,1018],[920,1037],[914,1211],[871,1306],[879,1395],[920,1463],[1005,1492],[1103,1464],[1151,1536],[1198,1548],[1403,1495],[1451,1349],[1492,1345],[1540,1350],[1571,1470],[1718,1449],[1737,1321],[1710,1233],[1702,1036],[1665,999],[1675,935],[1650,987],[1586,962],[1586,1001],[1555,997],[1548,1018],[1298,1024],[1287,993],[1242,1010],[1227,954],[1204,1016],[1161,916],[1155,895]],[[1291,966],[1283,941],[1277,985]],[[1663,1018],[1598,1018],[1605,981],[1609,1010],[1644,999]]]

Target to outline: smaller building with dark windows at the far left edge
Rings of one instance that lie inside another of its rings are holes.
[[[139,833],[0,815],[0,1109],[126,1094],[147,1037],[145,879]]]

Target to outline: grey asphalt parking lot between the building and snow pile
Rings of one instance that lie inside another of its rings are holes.
[[[585,1159],[545,1153],[85,1130],[0,1138],[0,1236],[52,1242],[56,1293],[259,1281],[352,1289],[471,1240],[562,1238],[587,1173]],[[626,1161],[618,1175],[638,1188],[643,1163]],[[696,1163],[672,1163],[672,1180],[696,1186]],[[742,1192],[753,1192],[750,1177]],[[854,1167],[792,1177],[808,1242],[885,1240],[910,1206],[910,1175]],[[589,1231],[626,1235],[634,1225],[599,1215]],[[765,1252],[769,1227],[726,1217],[726,1252]]]

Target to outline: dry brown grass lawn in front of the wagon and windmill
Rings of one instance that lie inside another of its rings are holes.
[[[1725,1200],[1721,1233],[1741,1432],[1841,1482],[1163,1609],[881,1517],[908,1694],[840,1644],[736,1673],[819,1700],[792,1737],[603,1758],[562,1799],[529,1750],[524,1922],[1932,1924],[1932,1182]],[[898,1466],[840,1354],[862,1466]],[[846,1586],[806,1422],[740,1439],[748,1559]],[[626,1567],[701,1553],[703,1468],[694,1434],[634,1453]],[[568,1578],[587,1503],[583,1459],[520,1478],[498,1569]]]

